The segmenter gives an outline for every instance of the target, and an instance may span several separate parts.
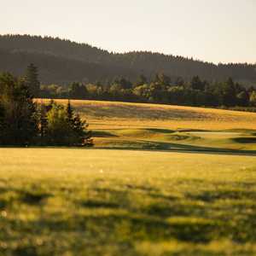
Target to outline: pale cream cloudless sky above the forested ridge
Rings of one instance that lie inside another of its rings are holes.
[[[0,33],[256,62],[256,0],[0,0]],[[1,47],[1,46],[0,46]]]

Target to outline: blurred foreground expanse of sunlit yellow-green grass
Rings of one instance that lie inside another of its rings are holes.
[[[255,255],[253,156],[0,148],[1,255]]]

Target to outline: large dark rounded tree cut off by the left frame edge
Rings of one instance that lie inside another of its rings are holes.
[[[9,145],[32,143],[38,125],[36,104],[24,80],[3,73],[0,76],[0,102],[4,109],[1,143]]]

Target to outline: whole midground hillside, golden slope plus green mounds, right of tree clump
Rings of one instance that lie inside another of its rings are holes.
[[[256,113],[123,102],[72,104],[89,122],[96,148],[256,154]]]

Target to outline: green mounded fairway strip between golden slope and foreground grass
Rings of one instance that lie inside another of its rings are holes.
[[[94,130],[96,148],[250,152],[256,155],[255,132],[168,129]]]

